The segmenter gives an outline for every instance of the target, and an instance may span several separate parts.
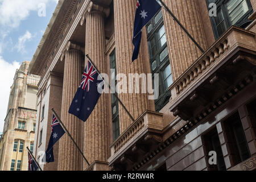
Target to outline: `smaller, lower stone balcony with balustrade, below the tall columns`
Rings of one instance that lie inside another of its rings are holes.
[[[162,142],[163,114],[145,111],[110,145],[109,166],[129,170],[150,148]]]

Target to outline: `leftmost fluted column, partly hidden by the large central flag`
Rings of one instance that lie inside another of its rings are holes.
[[[82,48],[76,44],[68,42],[67,48],[61,56],[61,60],[65,59],[64,78],[63,78],[63,96],[61,104],[61,119],[67,127],[73,139],[83,148],[83,132],[82,127],[84,122],[69,114],[69,106],[79,88],[82,75]],[[83,158],[77,150],[75,144],[68,137],[67,134],[63,135],[59,143],[59,171],[77,171],[82,170]]]

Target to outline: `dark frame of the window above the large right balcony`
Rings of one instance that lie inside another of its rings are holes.
[[[209,0],[205,0],[207,2],[207,7],[208,7],[208,10],[209,9]],[[228,30],[229,27],[232,26],[232,23],[230,21],[230,16],[229,16],[229,13],[228,13],[228,9],[226,7],[226,3],[228,2],[229,0],[217,0],[215,3],[217,5],[217,12],[218,10],[222,10],[222,13],[223,13],[223,16],[224,16],[224,26],[225,26],[225,31]],[[252,13],[253,13],[253,7],[251,6],[251,2],[250,0],[245,0],[248,7],[249,7],[249,10],[233,25],[233,26],[237,26],[237,27],[240,27],[242,26],[243,24],[245,23],[248,23],[248,22],[251,22],[251,20],[247,19]],[[210,22],[212,23],[212,28],[213,28],[213,33],[214,33],[214,37],[215,39],[217,40],[218,38],[221,37],[221,35],[219,35],[218,33],[218,30],[217,30],[217,24],[216,24],[216,20],[214,19],[215,17],[210,17]],[[225,32],[224,31],[224,32]]]

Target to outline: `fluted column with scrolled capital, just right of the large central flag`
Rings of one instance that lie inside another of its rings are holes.
[[[104,17],[109,15],[109,8],[89,2],[81,25],[86,20],[85,55],[89,55],[101,73],[107,73],[105,60]],[[85,58],[85,65],[87,58]],[[84,154],[89,163],[108,162],[109,130],[108,97],[101,94],[100,100],[84,125]],[[105,166],[108,170],[108,165]],[[84,169],[88,165],[84,163]]]

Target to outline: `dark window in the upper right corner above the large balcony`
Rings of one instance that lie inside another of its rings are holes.
[[[210,17],[215,38],[219,38],[230,26],[246,28],[251,22],[247,18],[253,13],[249,0],[207,0],[216,3],[217,16]]]

